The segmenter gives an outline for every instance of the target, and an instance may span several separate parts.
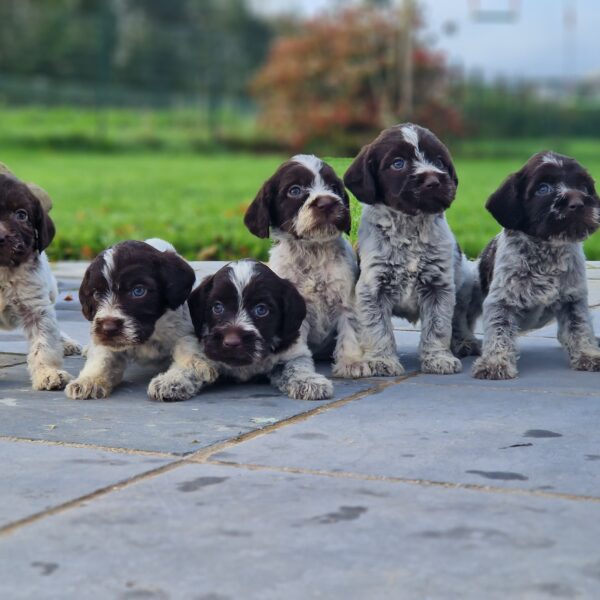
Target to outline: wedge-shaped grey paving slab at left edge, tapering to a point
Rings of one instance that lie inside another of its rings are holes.
[[[0,526],[171,462],[156,456],[0,440]]]

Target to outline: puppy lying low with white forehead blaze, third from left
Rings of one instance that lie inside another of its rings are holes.
[[[210,380],[267,375],[290,398],[323,400],[333,386],[315,372],[300,336],[306,304],[292,283],[254,260],[233,262],[190,295],[190,314]]]

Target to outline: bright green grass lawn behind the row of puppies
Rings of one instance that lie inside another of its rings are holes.
[[[540,146],[545,147],[540,143]],[[476,150],[456,159],[458,195],[448,220],[469,256],[476,256],[499,231],[484,209],[489,194],[517,169],[536,146],[514,157],[478,158]],[[600,143],[574,144],[572,154],[592,175],[600,173]],[[484,156],[487,153],[483,152]],[[190,151],[123,153],[5,148],[0,160],[20,177],[45,187],[53,197],[57,236],[54,259],[91,258],[124,239],[162,237],[188,258],[265,258],[268,241],[258,240],[242,219],[262,182],[283,157],[197,154]],[[331,159],[339,174],[350,159]],[[353,207],[356,224],[360,206]],[[586,244],[600,260],[600,234]]]

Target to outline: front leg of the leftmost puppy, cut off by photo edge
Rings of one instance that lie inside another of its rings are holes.
[[[60,367],[63,345],[53,306],[20,306],[23,330],[29,341],[27,366],[34,390],[62,390],[71,376]]]

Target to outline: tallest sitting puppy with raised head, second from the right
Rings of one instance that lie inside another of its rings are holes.
[[[403,372],[392,315],[421,321],[421,370],[457,373],[458,356],[479,353],[476,271],[444,211],[458,179],[447,148],[429,130],[404,124],[365,146],[344,183],[367,206],[358,232],[356,311],[364,376]]]

